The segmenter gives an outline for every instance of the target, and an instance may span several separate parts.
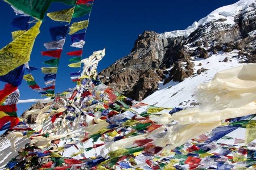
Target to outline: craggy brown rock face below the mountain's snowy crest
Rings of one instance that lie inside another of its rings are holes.
[[[158,89],[159,81],[181,82],[205,71],[193,69],[191,60],[196,58],[239,50],[242,62],[256,62],[256,3],[232,17],[232,23],[225,18],[210,20],[189,35],[145,31],[131,53],[102,70],[100,79],[123,95],[141,100]]]

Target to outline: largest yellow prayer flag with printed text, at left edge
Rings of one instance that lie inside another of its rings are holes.
[[[34,27],[16,37],[0,50],[0,75],[5,75],[30,60],[30,54],[41,24],[42,21],[38,21]]]

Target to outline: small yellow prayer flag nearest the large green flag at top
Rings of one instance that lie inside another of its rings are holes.
[[[47,16],[49,16],[49,18],[51,18],[52,20],[55,20],[55,21],[68,22],[69,23],[72,19],[74,9],[75,8],[73,7],[73,8],[69,8],[69,9],[66,9],[66,10],[50,12],[50,13],[47,13]]]

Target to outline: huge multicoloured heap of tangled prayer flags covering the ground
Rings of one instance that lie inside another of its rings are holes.
[[[38,114],[37,128],[17,130],[31,142],[6,168],[16,169],[255,169],[255,114],[221,121],[184,141],[195,128],[190,109],[131,100],[89,76]],[[56,105],[56,104],[55,104]],[[240,114],[242,115],[241,110]],[[25,115],[26,116],[26,115]],[[210,116],[210,115],[209,115]],[[204,128],[209,125],[204,123]],[[188,130],[189,131],[189,130]],[[239,134],[239,135],[237,135]],[[9,134],[9,138],[13,135]],[[184,141],[176,146],[175,141]],[[14,141],[13,141],[14,142]],[[15,146],[15,142],[12,143]],[[40,159],[40,162],[38,161]]]

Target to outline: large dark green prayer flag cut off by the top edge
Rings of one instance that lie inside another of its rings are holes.
[[[42,20],[52,0],[5,0],[5,2],[14,6],[25,14],[34,16],[36,19]]]

